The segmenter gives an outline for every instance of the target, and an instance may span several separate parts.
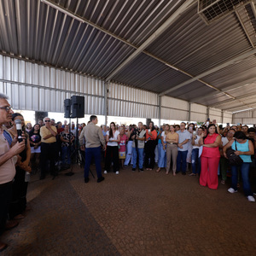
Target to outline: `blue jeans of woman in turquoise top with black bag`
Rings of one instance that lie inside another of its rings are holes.
[[[232,171],[231,187],[237,190],[237,166],[231,166],[231,171]],[[249,171],[250,171],[250,163],[242,163],[241,164],[242,187],[243,187],[243,192],[246,196],[253,195],[250,187],[250,182],[249,182]]]

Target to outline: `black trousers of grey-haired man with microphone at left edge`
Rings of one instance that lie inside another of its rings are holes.
[[[12,197],[12,182],[0,184],[0,236],[5,230],[9,204]]]

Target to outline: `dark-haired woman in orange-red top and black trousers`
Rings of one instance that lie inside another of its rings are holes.
[[[154,128],[154,123],[149,123],[149,129],[146,130],[146,141],[145,141],[145,167],[147,170],[154,168],[154,148],[156,146],[155,139],[157,132]],[[150,161],[150,162],[149,162]]]

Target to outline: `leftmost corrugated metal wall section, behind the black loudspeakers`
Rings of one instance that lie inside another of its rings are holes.
[[[0,92],[15,109],[63,112],[64,100],[84,96],[85,114],[104,114],[104,83],[64,70],[0,55]]]

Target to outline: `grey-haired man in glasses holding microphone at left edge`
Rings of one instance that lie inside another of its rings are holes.
[[[12,140],[9,132],[5,131],[3,127],[4,123],[12,120],[12,113],[14,113],[7,100],[7,96],[0,94],[0,236],[7,228],[6,219],[12,195],[12,182],[15,177],[15,161],[17,160],[14,156],[25,149],[24,140],[18,143],[17,136]],[[6,247],[7,244],[0,241],[0,252]]]

